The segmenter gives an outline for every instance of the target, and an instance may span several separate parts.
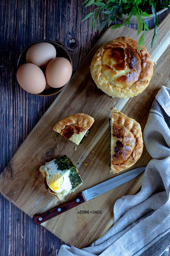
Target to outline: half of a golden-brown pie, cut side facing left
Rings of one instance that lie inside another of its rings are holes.
[[[120,172],[137,162],[143,150],[141,126],[134,119],[111,110],[111,171]]]

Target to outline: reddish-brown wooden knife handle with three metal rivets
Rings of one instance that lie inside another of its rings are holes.
[[[66,212],[67,210],[80,205],[82,203],[84,203],[86,200],[84,199],[82,193],[76,195],[75,199],[73,199],[72,201],[69,201],[67,203],[64,203],[62,205],[58,205],[54,208],[52,208],[51,210],[48,210],[47,212],[44,212],[43,214],[35,214],[33,216],[33,222],[35,224],[41,224],[42,222],[49,220],[63,212]]]

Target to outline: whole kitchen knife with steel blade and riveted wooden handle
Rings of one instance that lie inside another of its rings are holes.
[[[49,220],[77,205],[80,205],[94,197],[97,197],[98,195],[101,195],[109,190],[111,190],[114,187],[117,187],[126,181],[129,181],[133,179],[134,177],[141,174],[146,167],[140,167],[133,169],[129,172],[125,172],[123,174],[120,174],[116,177],[113,177],[112,179],[108,179],[102,183],[99,183],[95,185],[94,187],[90,187],[89,189],[86,189],[82,191],[82,193],[76,195],[75,199],[72,201],[69,201],[67,203],[64,203],[62,205],[58,205],[51,210],[48,210],[47,212],[44,212],[43,214],[35,214],[33,216],[33,222],[35,224],[41,224],[42,222]]]

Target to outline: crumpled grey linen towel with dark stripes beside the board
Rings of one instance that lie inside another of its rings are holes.
[[[152,156],[141,191],[114,205],[114,225],[90,247],[61,245],[58,256],[167,256],[170,245],[170,89],[156,95],[144,129]]]

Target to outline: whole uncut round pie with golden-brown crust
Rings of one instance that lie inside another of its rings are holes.
[[[109,96],[129,98],[141,93],[153,74],[152,59],[138,42],[122,36],[101,46],[91,63],[91,75],[98,88]]]

